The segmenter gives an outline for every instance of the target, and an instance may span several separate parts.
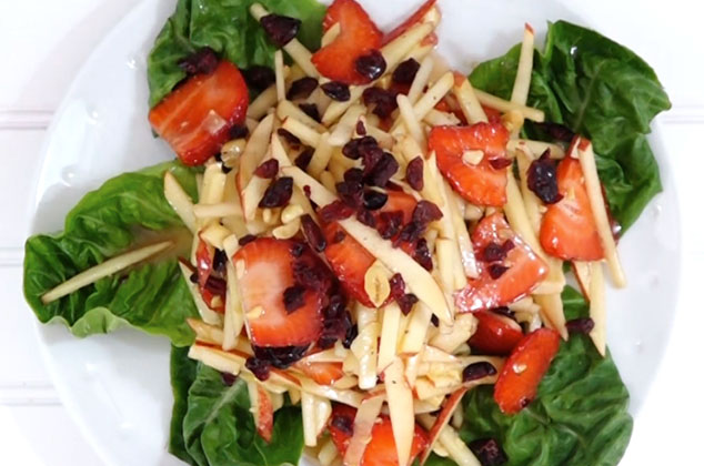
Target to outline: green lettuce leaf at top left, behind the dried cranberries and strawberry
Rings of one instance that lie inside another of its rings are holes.
[[[273,65],[276,49],[249,12],[255,2],[271,12],[300,19],[298,39],[309,50],[320,47],[325,7],[316,0],[179,0],[149,55],[150,105],[185,78],[179,61],[202,47],[210,47],[240,68]]]

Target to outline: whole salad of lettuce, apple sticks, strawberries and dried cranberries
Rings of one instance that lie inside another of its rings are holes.
[[[178,160],[28,240],[41,322],[171,340],[184,462],[621,459],[604,287],[661,190],[645,134],[667,97],[564,21],[467,78],[440,20],[435,0],[392,31],[354,0],[179,0],[148,70]]]

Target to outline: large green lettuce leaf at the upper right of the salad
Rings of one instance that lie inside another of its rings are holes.
[[[480,64],[472,84],[509,99],[519,55],[514,47]],[[592,30],[557,21],[550,24],[544,52],[535,53],[529,104],[592,140],[612,213],[630,227],[662,191],[645,135],[671,103],[651,67]]]

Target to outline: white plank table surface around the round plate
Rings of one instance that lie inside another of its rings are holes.
[[[62,406],[34,345],[21,293],[22,245],[32,212],[29,181],[47,126],[97,41],[139,0],[0,0],[0,464],[100,465]],[[174,0],[163,0],[174,2]],[[523,0],[525,1],[525,0]],[[409,0],[418,3],[416,0]],[[623,465],[701,465],[704,415],[700,343],[704,306],[704,7],[687,0],[570,1],[601,32],[627,44],[658,72],[673,101],[663,115],[683,219],[681,297],[658,376]],[[627,24],[627,28],[623,24]],[[633,27],[637,24],[637,27]],[[644,252],[645,253],[645,252]],[[653,368],[656,369],[655,367]],[[138,466],[138,465],[137,465]]]

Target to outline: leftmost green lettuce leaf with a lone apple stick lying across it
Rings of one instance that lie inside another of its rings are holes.
[[[190,233],[163,196],[167,170],[197,197],[195,171],[168,162],[109,180],[69,212],[63,232],[27,240],[24,297],[42,323],[63,322],[79,337],[129,324],[165,335],[178,346],[192,342],[185,318],[198,316],[198,311],[173,254],[102,278],[47,305],[41,302],[47,291],[133,249],[139,241],[154,242],[160,234],[181,236],[185,250],[174,253],[188,254]]]

